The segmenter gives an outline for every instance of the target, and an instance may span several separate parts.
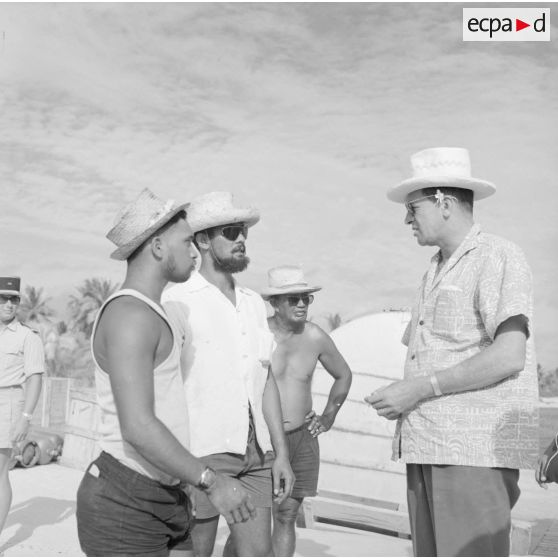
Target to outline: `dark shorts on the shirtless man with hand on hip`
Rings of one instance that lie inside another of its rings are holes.
[[[306,498],[318,493],[320,473],[320,445],[318,437],[312,437],[306,424],[285,432],[291,468],[296,481],[291,498]]]

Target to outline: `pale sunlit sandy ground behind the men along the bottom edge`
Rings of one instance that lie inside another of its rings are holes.
[[[10,473],[14,498],[0,535],[5,556],[83,556],[76,530],[75,494],[82,471],[57,464]],[[215,555],[227,538],[219,527]],[[411,556],[411,543],[387,535],[329,525],[299,529],[297,556]]]

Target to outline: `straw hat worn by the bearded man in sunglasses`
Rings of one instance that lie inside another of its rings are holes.
[[[244,223],[251,227],[260,220],[255,207],[235,207],[231,192],[209,192],[193,199],[188,208],[188,224],[197,233],[221,225]]]

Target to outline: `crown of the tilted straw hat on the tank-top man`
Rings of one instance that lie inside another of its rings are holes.
[[[174,208],[174,200],[164,201],[149,188],[144,188],[133,202],[117,214],[107,238],[118,247],[124,246],[163,219]]]

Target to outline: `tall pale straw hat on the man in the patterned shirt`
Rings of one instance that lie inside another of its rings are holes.
[[[407,196],[422,188],[463,188],[472,190],[475,200],[482,200],[496,192],[487,180],[471,176],[471,160],[462,147],[433,147],[411,155],[413,177],[393,186],[387,197],[405,203]]]

